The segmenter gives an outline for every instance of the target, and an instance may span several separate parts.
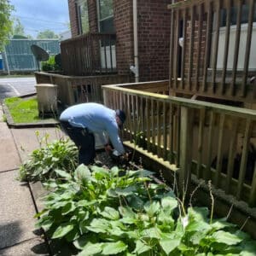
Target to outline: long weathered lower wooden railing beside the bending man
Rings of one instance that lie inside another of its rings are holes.
[[[146,86],[102,87],[105,104],[127,113],[131,143],[178,166],[180,188],[191,176],[212,180],[214,188],[256,207],[256,112],[131,89]]]

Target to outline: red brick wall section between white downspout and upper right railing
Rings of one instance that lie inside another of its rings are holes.
[[[140,81],[168,79],[170,0],[138,0]]]

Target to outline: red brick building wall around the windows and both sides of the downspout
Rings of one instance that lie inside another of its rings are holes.
[[[73,37],[78,35],[75,0],[68,0]],[[168,79],[170,0],[137,0],[140,81]],[[96,1],[88,0],[90,32],[97,32]],[[116,60],[119,74],[134,64],[132,0],[113,0]]]

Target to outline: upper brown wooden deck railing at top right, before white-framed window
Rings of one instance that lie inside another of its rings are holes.
[[[256,84],[250,83],[256,74],[255,1],[187,0],[169,9],[172,95],[255,103]]]

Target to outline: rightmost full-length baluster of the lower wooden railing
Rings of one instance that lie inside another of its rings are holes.
[[[237,184],[236,198],[238,200],[240,200],[241,198],[241,191],[244,183],[245,174],[247,171],[247,156],[248,156],[251,126],[252,126],[251,119],[247,119],[246,130],[245,130],[243,143],[242,143],[241,165],[239,169],[239,177],[238,177],[238,184]]]

